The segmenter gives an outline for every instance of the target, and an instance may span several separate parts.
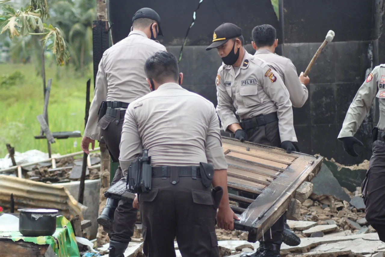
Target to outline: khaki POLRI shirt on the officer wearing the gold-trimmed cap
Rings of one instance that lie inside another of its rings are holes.
[[[229,125],[239,123],[233,113],[234,104],[241,120],[277,112],[281,142],[297,142],[289,92],[267,63],[246,52],[237,73],[231,65],[219,67],[216,85],[216,110],[225,131]]]

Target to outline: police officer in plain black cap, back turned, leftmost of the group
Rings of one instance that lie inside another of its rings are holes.
[[[128,37],[104,52],[96,76],[94,99],[90,106],[85,136],[82,139],[82,149],[87,154],[89,144],[94,149],[95,140],[100,140],[102,135],[112,160],[118,161],[126,108],[129,103],[150,92],[143,65],[154,52],[166,50],[155,41],[158,35],[163,35],[160,23],[160,17],[154,10],[138,10],[132,17],[132,31]],[[121,178],[122,171],[119,167],[112,184]],[[97,221],[111,234],[110,247],[126,249],[134,233],[137,210],[132,208],[131,203],[118,202],[107,198],[106,206]]]

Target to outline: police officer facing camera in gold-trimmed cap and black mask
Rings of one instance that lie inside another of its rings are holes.
[[[242,141],[282,147],[295,151],[297,138],[289,93],[277,72],[243,47],[242,30],[224,23],[214,30],[213,43],[223,64],[216,77],[217,112],[224,130]],[[238,122],[233,106],[239,115]],[[255,256],[280,256],[284,216],[264,235]]]

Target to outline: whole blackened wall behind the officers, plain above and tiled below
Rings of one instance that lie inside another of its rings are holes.
[[[205,48],[213,30],[223,22],[233,22],[243,29],[246,49],[252,54],[249,44],[253,27],[273,25],[281,43],[276,52],[290,58],[298,74],[305,71],[328,30],[334,30],[333,42],[323,49],[310,71],[308,101],[304,107],[293,109],[298,145],[302,152],[321,154],[342,164],[360,163],[372,154],[371,130],[378,120],[378,103],[375,101],[356,134],[364,143],[364,147],[356,147],[359,158],[348,156],[337,136],[358,88],[374,66],[385,63],[383,1],[280,0],[278,21],[270,0],[203,0],[179,63],[184,73],[183,86],[217,104],[214,81],[221,59],[215,50]],[[162,44],[179,57],[199,1],[166,2],[110,0],[114,42],[129,34],[136,10],[151,7],[162,19]]]

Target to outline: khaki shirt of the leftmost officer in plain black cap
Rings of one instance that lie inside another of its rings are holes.
[[[144,32],[134,30],[104,52],[96,75],[94,100],[84,130],[86,137],[100,140],[97,113],[102,101],[131,103],[150,92],[144,63],[157,51],[166,51],[166,47],[149,39]]]

